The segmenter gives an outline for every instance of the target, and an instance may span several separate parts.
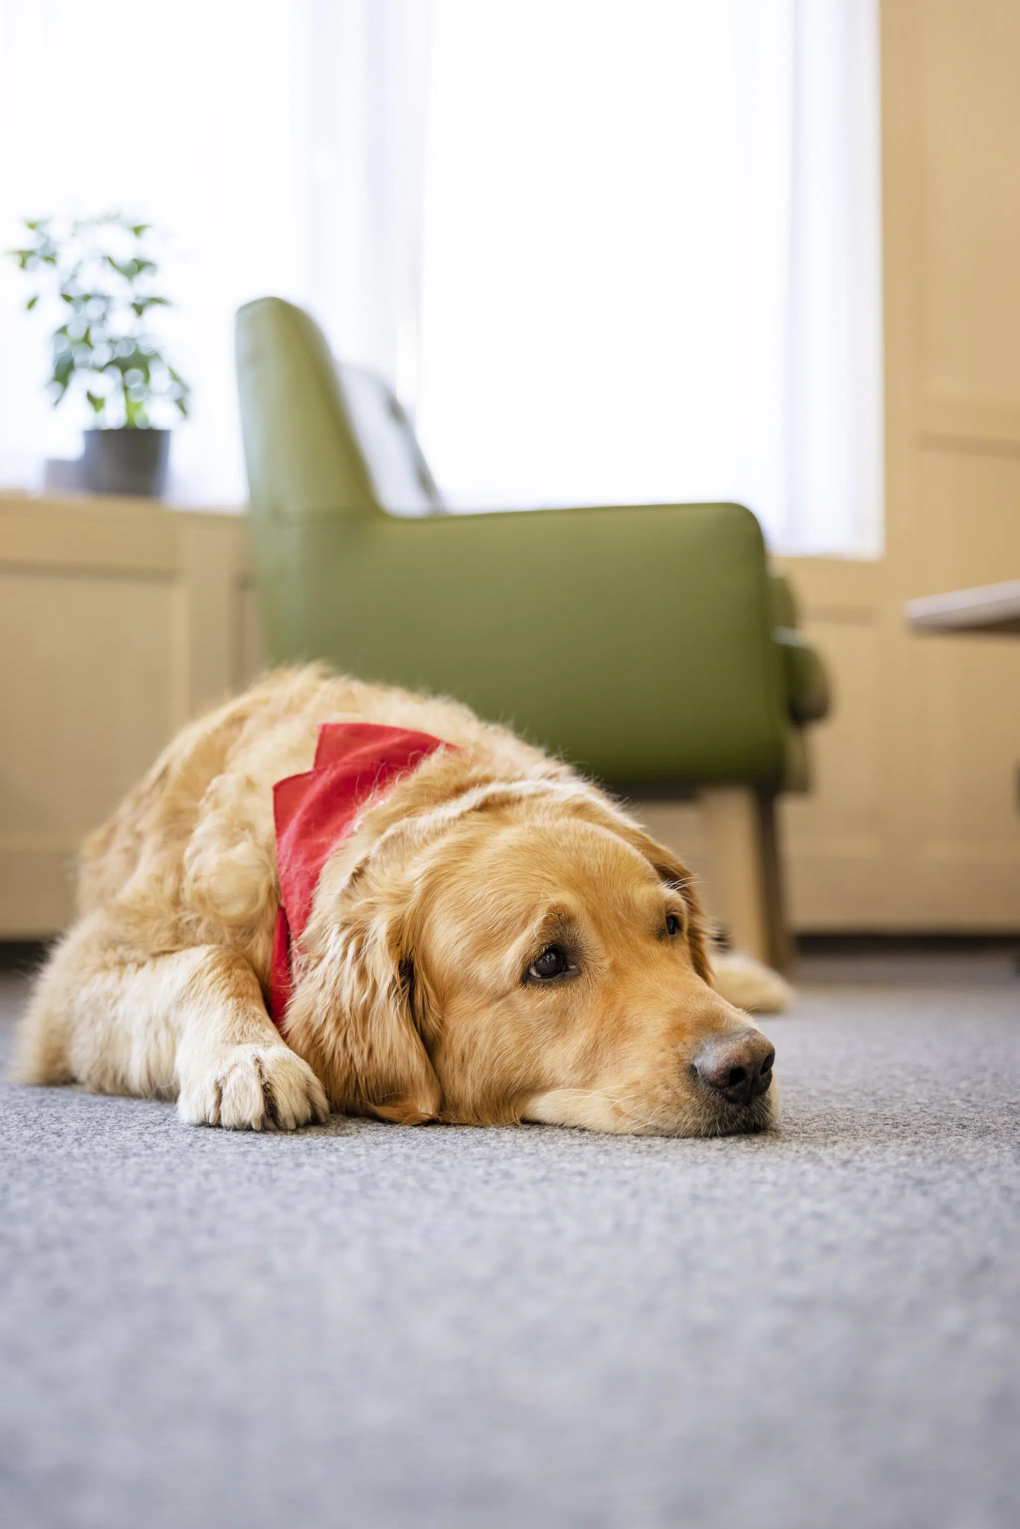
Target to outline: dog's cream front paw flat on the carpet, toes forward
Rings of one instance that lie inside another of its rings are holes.
[[[226,1125],[260,1131],[278,1127],[292,1131],[309,1121],[329,1119],[326,1090],[307,1063],[286,1046],[228,1046],[216,1066],[177,1098],[180,1118],[190,1125]]]

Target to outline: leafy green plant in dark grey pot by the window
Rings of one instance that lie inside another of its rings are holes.
[[[151,225],[121,213],[78,219],[26,219],[24,249],[8,251],[37,289],[26,307],[47,300],[61,323],[50,335],[47,391],[54,405],[81,394],[95,414],[84,433],[78,483],[93,494],[159,497],[167,482],[170,430],[187,419],[188,384],[148,330],[168,298],[153,291],[159,266]]]

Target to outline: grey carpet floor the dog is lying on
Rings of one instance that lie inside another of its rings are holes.
[[[759,1139],[0,1086],[5,1524],[1020,1523],[1020,979],[806,977]]]

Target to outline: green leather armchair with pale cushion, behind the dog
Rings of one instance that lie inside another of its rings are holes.
[[[630,797],[743,789],[786,963],[772,804],[827,685],[740,505],[447,514],[396,398],[280,298],[237,315],[249,526],[274,664],[456,696]]]

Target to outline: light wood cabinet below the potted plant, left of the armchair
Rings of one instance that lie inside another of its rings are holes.
[[[67,922],[84,835],[258,671],[254,604],[237,515],[0,495],[0,937]]]

